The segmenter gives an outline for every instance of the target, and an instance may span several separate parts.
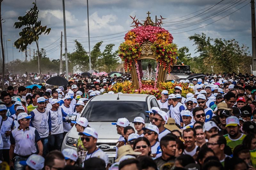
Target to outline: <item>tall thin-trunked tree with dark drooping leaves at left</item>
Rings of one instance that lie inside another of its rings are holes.
[[[14,42],[14,46],[21,51],[25,51],[28,44],[31,44],[32,42],[36,42],[37,51],[39,51],[39,35],[42,33],[47,33],[48,35],[51,31],[51,28],[41,25],[41,20],[38,20],[39,10],[36,4],[33,4],[34,7],[31,8],[30,11],[26,12],[25,16],[18,17],[19,22],[14,23],[15,29],[22,28],[22,31],[19,33],[20,38]],[[38,71],[40,74],[40,55],[38,57]]]

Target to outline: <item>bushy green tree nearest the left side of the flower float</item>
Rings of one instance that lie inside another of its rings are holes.
[[[102,58],[100,59],[101,67],[99,71],[110,72],[110,70],[115,70],[118,65],[119,57],[118,51],[112,52],[115,44],[108,44],[104,51],[102,52]]]

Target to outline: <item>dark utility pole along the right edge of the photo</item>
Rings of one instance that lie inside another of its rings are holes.
[[[252,70],[256,70],[256,26],[255,26],[255,4],[251,0],[251,13],[252,13]]]

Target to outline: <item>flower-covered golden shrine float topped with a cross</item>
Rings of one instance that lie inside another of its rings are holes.
[[[161,97],[162,90],[174,92],[174,87],[182,87],[182,96],[188,92],[193,92],[186,83],[165,82],[166,74],[170,74],[174,61],[178,56],[177,45],[174,44],[172,34],[162,28],[162,20],[157,19],[155,23],[151,20],[149,12],[148,17],[140,23],[135,17],[132,24],[133,29],[128,31],[124,36],[124,42],[119,46],[119,56],[124,64],[125,71],[130,71],[132,83],[116,83],[107,91],[123,93],[144,93],[153,94],[157,99]],[[143,60],[154,60],[145,63],[142,68]]]

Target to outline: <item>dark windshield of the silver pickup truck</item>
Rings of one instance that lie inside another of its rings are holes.
[[[90,101],[82,117],[89,122],[115,122],[118,118],[125,117],[129,122],[133,122],[135,117],[144,118],[145,122],[149,122],[146,117],[147,103],[145,101]]]

